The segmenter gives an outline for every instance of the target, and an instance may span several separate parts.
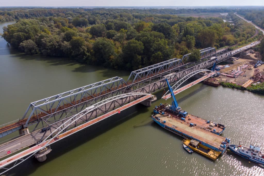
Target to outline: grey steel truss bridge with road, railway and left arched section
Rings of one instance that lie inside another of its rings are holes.
[[[21,134],[0,144],[0,158],[30,148],[0,161],[0,169],[6,172],[26,156],[34,155],[68,135],[136,103],[151,101],[150,94],[165,87],[165,79],[173,84],[187,78],[187,75],[194,75],[213,66],[216,59],[219,63],[232,57],[231,51],[216,52],[215,48],[206,48],[200,52],[202,58],[199,62],[184,64],[182,59],[174,58],[135,70],[127,81],[114,77],[30,103],[20,120],[0,126],[0,137],[15,131]],[[41,133],[44,127],[46,131]],[[18,149],[13,143],[19,141],[22,142]]]

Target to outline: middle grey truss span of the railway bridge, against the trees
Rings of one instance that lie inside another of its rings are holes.
[[[127,82],[138,82],[148,77],[152,77],[159,73],[176,68],[180,65],[182,65],[182,60],[177,58],[166,60],[158,64],[150,65],[148,67],[131,72]]]

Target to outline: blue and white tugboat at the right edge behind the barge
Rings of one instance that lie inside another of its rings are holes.
[[[260,165],[264,164],[264,154],[260,151],[260,145],[249,145],[249,147],[242,145],[229,145],[228,148],[243,158]]]

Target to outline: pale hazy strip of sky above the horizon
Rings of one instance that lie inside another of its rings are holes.
[[[1,6],[264,6],[264,0],[0,0]]]

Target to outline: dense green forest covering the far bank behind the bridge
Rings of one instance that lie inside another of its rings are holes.
[[[26,54],[122,70],[182,58],[197,49],[252,41],[255,28],[233,13],[234,25],[216,17],[171,15],[199,11],[206,9],[7,8],[0,9],[0,21],[17,20],[3,29],[2,37]]]

